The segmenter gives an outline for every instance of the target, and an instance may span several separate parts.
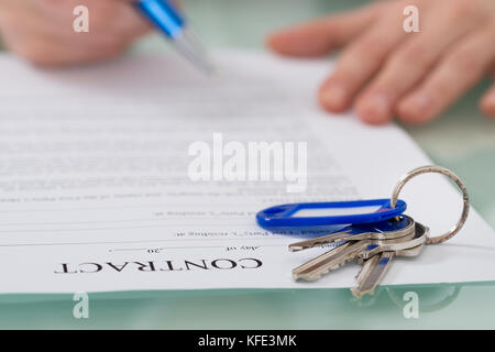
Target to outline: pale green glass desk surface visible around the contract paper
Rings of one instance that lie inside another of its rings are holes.
[[[366,1],[189,0],[186,11],[210,47],[263,50],[273,29]],[[163,51],[158,36],[136,51]],[[453,169],[472,205],[495,227],[495,121],[477,110],[480,84],[427,127],[405,127],[435,163]],[[495,268],[494,268],[495,270]],[[420,297],[406,319],[403,295]],[[380,287],[356,300],[349,289],[130,292],[89,295],[89,319],[73,317],[73,295],[2,295],[2,329],[485,329],[495,328],[495,283]]]

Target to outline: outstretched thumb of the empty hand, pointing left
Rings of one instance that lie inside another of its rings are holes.
[[[373,4],[287,30],[272,33],[266,40],[274,52],[289,56],[320,56],[343,45],[373,21],[383,4]]]

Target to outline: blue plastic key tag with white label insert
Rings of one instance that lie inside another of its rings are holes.
[[[271,228],[314,228],[334,224],[380,222],[402,215],[407,208],[398,199],[370,199],[331,202],[300,202],[266,208],[256,215],[257,223]]]

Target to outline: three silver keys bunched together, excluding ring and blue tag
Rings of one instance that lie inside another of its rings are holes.
[[[358,286],[351,290],[361,298],[373,294],[396,256],[419,255],[428,233],[427,227],[410,217],[399,216],[398,219],[350,226],[342,232],[293,243],[289,250],[295,252],[340,242],[327,253],[294,268],[293,276],[295,279],[315,280],[345,263],[356,261],[362,267],[356,276]]]

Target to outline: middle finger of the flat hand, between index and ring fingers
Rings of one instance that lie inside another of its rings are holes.
[[[421,33],[407,35],[358,99],[356,113],[362,120],[374,124],[391,121],[398,100],[430,72],[452,43],[477,25],[475,16],[458,25],[457,16],[446,14],[443,8],[433,8],[428,14]]]

